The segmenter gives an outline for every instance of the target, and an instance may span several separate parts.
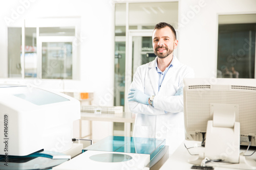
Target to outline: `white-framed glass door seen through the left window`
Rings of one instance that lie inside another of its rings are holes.
[[[74,79],[73,64],[76,50],[74,37],[39,37],[38,55],[42,79]]]

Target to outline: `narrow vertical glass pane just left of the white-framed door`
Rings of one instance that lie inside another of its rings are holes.
[[[25,77],[36,77],[36,28],[25,28]]]

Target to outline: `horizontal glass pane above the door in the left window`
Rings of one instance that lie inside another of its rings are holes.
[[[75,36],[75,27],[39,28],[39,36]]]

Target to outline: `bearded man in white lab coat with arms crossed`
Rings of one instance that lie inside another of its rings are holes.
[[[152,40],[157,57],[137,68],[127,97],[136,113],[133,136],[166,139],[172,154],[185,139],[183,79],[194,70],[173,55],[178,40],[171,25],[158,23]]]

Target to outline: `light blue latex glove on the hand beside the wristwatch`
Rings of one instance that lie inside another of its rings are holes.
[[[128,98],[128,101],[136,101],[144,105],[148,105],[148,98],[150,98],[150,96],[146,95],[145,93],[143,93],[138,89],[132,88],[131,91],[128,93],[127,98]]]

